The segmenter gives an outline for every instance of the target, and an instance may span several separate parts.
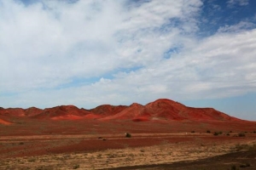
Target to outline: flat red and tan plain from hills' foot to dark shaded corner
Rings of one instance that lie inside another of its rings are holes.
[[[256,122],[38,121],[26,117],[13,117],[11,122],[0,125],[0,169],[144,169],[203,160],[236,152],[238,144],[256,144]],[[215,136],[215,132],[222,133]],[[241,132],[245,137],[238,137]],[[131,138],[125,138],[125,133],[131,133]]]

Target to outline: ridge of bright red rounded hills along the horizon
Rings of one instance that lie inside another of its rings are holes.
[[[44,110],[36,107],[28,109],[0,107],[0,124],[8,125],[12,122],[8,117],[27,117],[45,120],[78,120],[97,119],[143,121],[194,121],[194,122],[230,122],[241,121],[228,116],[213,108],[193,108],[180,104],[171,99],[157,99],[147,105],[133,103],[126,105],[99,105],[94,109],[79,109],[74,105],[60,105]]]

